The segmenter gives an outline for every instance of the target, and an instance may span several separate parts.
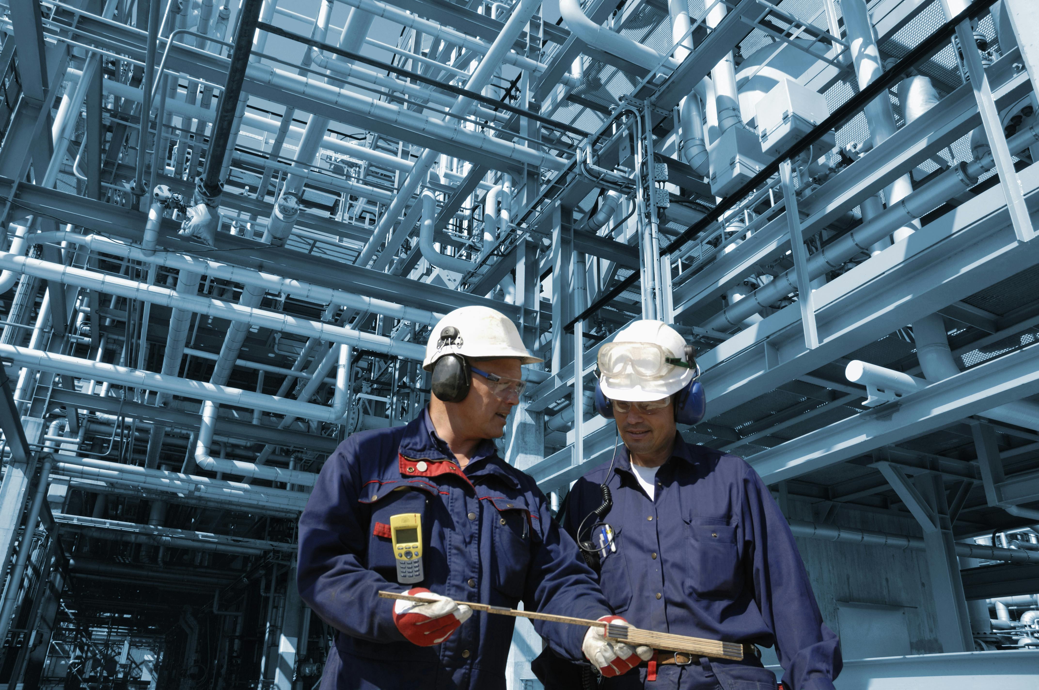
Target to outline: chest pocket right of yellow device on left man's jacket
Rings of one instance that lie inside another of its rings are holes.
[[[495,589],[509,600],[523,599],[534,548],[534,522],[527,504],[520,499],[488,499],[495,510],[489,514],[490,569]]]

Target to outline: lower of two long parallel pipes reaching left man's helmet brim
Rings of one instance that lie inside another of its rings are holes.
[[[151,261],[152,259],[149,258],[148,260]],[[243,307],[223,299],[181,295],[176,290],[170,290],[169,288],[139,283],[115,275],[104,275],[98,273],[98,271],[75,268],[63,264],[52,264],[39,259],[16,257],[8,253],[0,253],[0,268],[17,270],[35,277],[96,290],[100,293],[118,295],[119,297],[127,297],[129,299],[139,299],[171,309],[182,309],[196,314],[205,314],[239,323],[247,323],[252,326],[270,328],[279,333],[291,333],[307,338],[318,338],[328,342],[351,345],[361,349],[402,356],[408,360],[421,361],[426,354],[425,346],[418,343],[394,340],[384,336],[376,336],[363,330],[354,330],[346,326],[323,323],[321,321],[312,321],[290,314]],[[266,407],[262,408],[267,409]],[[271,409],[271,412],[274,410]],[[304,416],[300,415],[300,417]]]

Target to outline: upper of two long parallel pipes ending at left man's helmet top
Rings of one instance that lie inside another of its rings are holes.
[[[87,246],[94,251],[114,254],[136,261],[148,261],[149,263],[165,266],[166,268],[176,268],[181,271],[223,278],[232,283],[264,288],[269,292],[284,292],[293,297],[320,304],[341,304],[349,309],[391,316],[401,321],[434,325],[444,318],[444,314],[438,312],[430,312],[429,310],[417,309],[415,307],[404,307],[403,304],[397,304],[384,299],[326,288],[314,283],[296,281],[273,273],[265,273],[251,268],[233,266],[211,259],[202,259],[175,251],[160,251],[153,257],[145,257],[141,249],[131,244],[111,240],[101,235],[80,235],[70,231],[58,230],[31,235],[29,239],[32,242],[75,242],[76,244]]]

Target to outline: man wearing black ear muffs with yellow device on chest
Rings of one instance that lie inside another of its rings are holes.
[[[299,520],[298,566],[300,596],[337,630],[322,690],[504,689],[514,618],[452,600],[622,620],[533,479],[491,441],[520,401],[521,365],[540,361],[500,312],[455,310],[429,337],[427,409],[351,435],[325,462]],[[534,625],[604,676],[651,654],[601,627]]]

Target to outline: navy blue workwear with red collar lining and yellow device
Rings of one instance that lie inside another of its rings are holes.
[[[390,518],[418,512],[425,579],[398,584]],[[514,619],[475,612],[442,644],[406,641],[380,589],[583,618],[610,610],[594,573],[552,519],[534,480],[485,441],[461,470],[428,410],[355,433],[325,462],[299,519],[299,595],[337,631],[322,690],[505,688]],[[535,622],[567,658],[586,628]]]

